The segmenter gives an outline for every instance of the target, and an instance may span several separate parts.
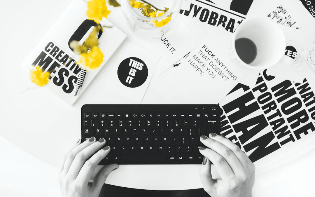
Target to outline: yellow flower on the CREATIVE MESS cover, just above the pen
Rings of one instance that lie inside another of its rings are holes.
[[[79,62],[82,67],[87,70],[94,70],[98,68],[103,62],[104,54],[97,46],[94,46],[88,53],[83,53],[79,57]]]

